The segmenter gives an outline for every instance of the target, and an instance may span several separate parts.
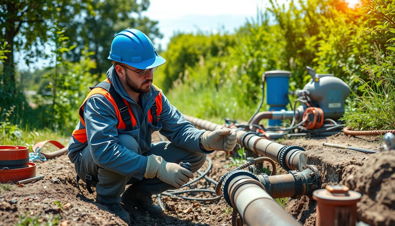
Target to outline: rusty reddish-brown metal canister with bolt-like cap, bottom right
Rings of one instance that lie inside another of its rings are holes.
[[[327,185],[315,190],[313,199],[317,201],[316,226],[355,226],[359,192],[343,185]]]

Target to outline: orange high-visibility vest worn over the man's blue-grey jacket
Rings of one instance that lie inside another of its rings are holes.
[[[109,82],[111,84],[111,82],[108,80],[108,78],[106,78],[103,82]],[[157,90],[160,90],[156,85],[153,85],[153,86]],[[110,101],[111,104],[113,104],[114,109],[115,109],[115,114],[118,119],[117,129],[126,129],[126,123],[122,120],[119,107],[115,103],[115,100],[111,96],[111,94],[107,90],[103,89],[102,87],[94,87],[89,92],[88,96],[85,98],[84,102],[79,107],[79,119],[81,120],[81,124],[84,126],[84,128],[75,129],[72,133],[73,138],[81,143],[85,143],[88,140],[87,129],[85,128],[85,120],[84,120],[84,105],[85,105],[85,102],[89,99],[89,97],[91,97],[92,95],[95,95],[95,94],[103,95],[108,101]],[[134,114],[133,114],[132,110],[130,109],[130,105],[129,105],[128,101],[126,101],[125,99],[123,99],[123,101],[126,104],[126,106],[128,106],[128,112],[130,114],[130,121],[132,122],[132,126],[135,126],[136,125],[136,118],[134,117]],[[155,103],[156,103],[156,115],[159,116],[160,113],[162,112],[162,93],[161,92],[159,92],[159,95],[157,95],[155,97]],[[148,122],[152,123],[152,121],[153,121],[152,113],[151,113],[151,111],[148,111]],[[158,117],[158,121],[159,121],[159,117]]]

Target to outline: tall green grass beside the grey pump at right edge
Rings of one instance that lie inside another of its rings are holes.
[[[375,46],[376,64],[369,64],[364,58],[367,81],[352,74],[351,79],[359,83],[362,95],[352,91],[348,109],[341,118],[346,125],[362,130],[395,129],[395,56],[382,53]]]

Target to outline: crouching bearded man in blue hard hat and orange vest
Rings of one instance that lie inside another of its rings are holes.
[[[107,79],[90,91],[79,109],[68,156],[77,182],[85,181],[89,192],[90,186],[96,187],[96,202],[130,224],[121,201],[153,217],[164,215],[152,194],[180,188],[194,177],[206,154],[232,150],[237,139],[230,129],[196,129],[152,85],[156,68],[166,60],[141,31],[117,34],[108,59],[113,66]],[[170,142],[151,144],[154,131]],[[181,161],[189,162],[192,172],[181,167]],[[132,185],[125,190],[126,184]]]

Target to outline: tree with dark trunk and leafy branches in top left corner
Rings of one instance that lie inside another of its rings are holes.
[[[43,45],[49,40],[48,30],[57,21],[68,23],[73,15],[89,6],[90,0],[0,0],[0,42],[9,45],[1,80],[12,93],[15,93],[14,52],[24,51],[26,64],[35,57],[46,57]]]

